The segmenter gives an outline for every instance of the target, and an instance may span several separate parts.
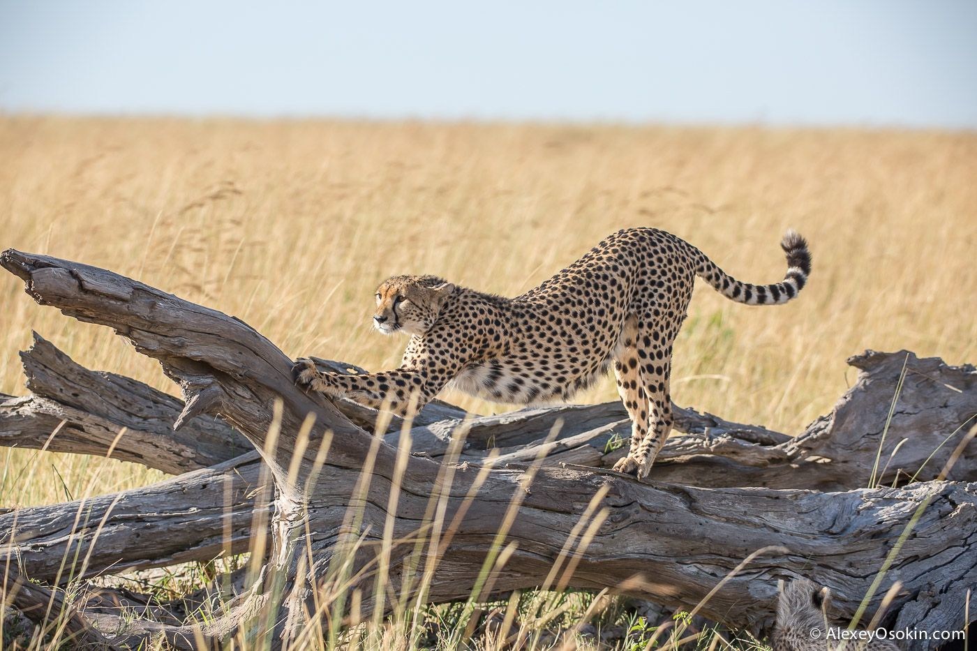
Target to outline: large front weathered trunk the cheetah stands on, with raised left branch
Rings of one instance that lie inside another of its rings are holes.
[[[399,457],[389,446],[372,445],[369,434],[330,402],[297,390],[290,360],[249,326],[105,270],[17,251],[5,252],[0,263],[26,282],[38,302],[82,321],[110,325],[138,351],[159,360],[187,398],[178,425],[201,413],[219,413],[263,451],[277,491],[266,585],[280,586],[286,595],[276,627],[279,643],[295,633],[313,607],[309,586],[326,574],[346,540],[343,515],[357,495],[364,467],[371,468],[372,480],[359,500],[357,533],[379,541],[393,507],[390,540],[411,543],[368,545],[357,563],[365,566],[376,553],[388,554],[389,563],[382,566],[387,574],[380,579],[395,592],[417,588],[407,585],[409,563],[416,560],[413,540],[429,522],[431,496],[444,492],[444,516],[456,520],[458,533],[440,548],[422,547],[422,565],[426,554],[436,555],[437,571],[423,595],[427,601],[466,597],[499,542],[516,545],[493,589],[540,585],[565,543],[578,539],[576,525],[601,493],[607,516],[597,518],[600,526],[590,544],[573,550],[569,586],[627,585],[639,596],[690,607],[745,556],[773,543],[789,551],[755,560],[712,594],[703,615],[738,628],[763,629],[772,618],[776,580],[798,575],[831,586],[837,614],[851,615],[888,549],[918,513],[884,583],[900,580],[904,585],[891,612],[902,625],[921,629],[962,623],[965,590],[977,579],[977,485],[914,484],[821,494],[643,484],[576,468],[543,468],[533,474],[525,467],[481,471],[461,466],[445,486],[442,466],[435,461]],[[282,404],[277,420],[276,401]],[[300,432],[309,431],[302,428],[308,414],[316,421],[307,440]],[[316,456],[325,430],[332,433],[331,448],[319,472]],[[275,435],[277,445],[266,450]],[[498,525],[507,512],[514,515],[512,526],[499,539]],[[636,575],[646,580],[629,582]],[[647,577],[655,577],[655,583]],[[364,594],[372,593],[376,580],[375,573],[361,577]],[[273,596],[252,593],[206,634],[249,626],[238,615]],[[367,610],[371,605],[369,599],[363,603]],[[170,633],[177,639],[186,631]]]

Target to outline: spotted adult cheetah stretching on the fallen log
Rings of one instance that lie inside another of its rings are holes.
[[[613,365],[632,424],[628,454],[614,469],[644,478],[671,431],[672,342],[695,277],[739,303],[786,303],[807,282],[811,255],[793,231],[781,246],[786,277],[773,284],[737,281],[655,228],[618,231],[516,298],[434,276],[395,276],[377,288],[373,325],[410,335],[399,369],[344,375],[300,359],[293,371],[314,391],[403,415],[448,384],[493,402],[567,401]]]

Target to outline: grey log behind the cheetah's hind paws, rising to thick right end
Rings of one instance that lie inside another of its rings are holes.
[[[845,491],[868,487],[872,480],[902,485],[935,478],[977,422],[977,369],[908,351],[868,351],[848,363],[860,370],[855,384],[830,413],[796,437],[673,408],[676,429],[688,436],[669,439],[651,479],[714,488]],[[614,402],[475,418],[461,458],[476,461],[497,449],[496,463],[526,462],[557,420],[564,425],[558,439],[547,444],[547,462],[610,467],[623,455],[614,444],[626,441],[629,425],[623,407]],[[444,455],[459,424],[446,420],[415,427],[415,448]],[[393,432],[386,440],[396,446],[399,436]],[[977,481],[974,451],[977,443],[957,460],[951,479]]]

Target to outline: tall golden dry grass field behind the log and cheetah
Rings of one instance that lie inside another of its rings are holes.
[[[814,255],[811,281],[783,307],[697,289],[675,348],[680,405],[796,432],[866,348],[977,360],[977,134],[5,117],[0,160],[0,247],[180,294],[292,357],[394,367],[404,340],[369,324],[384,278],[430,273],[516,295],[646,225],[747,282],[783,278],[788,227]],[[17,352],[31,329],[86,367],[174,390],[119,337],[35,305],[12,276],[0,276],[0,305],[2,392],[23,392]],[[610,380],[578,397],[615,399]],[[2,454],[3,507],[160,476]]]

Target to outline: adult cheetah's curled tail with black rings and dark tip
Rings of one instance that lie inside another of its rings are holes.
[[[715,287],[726,298],[746,305],[780,305],[796,296],[811,274],[811,252],[807,241],[796,231],[787,231],[781,240],[787,257],[787,273],[783,282],[750,284],[741,282],[724,272],[701,254],[696,275]]]

